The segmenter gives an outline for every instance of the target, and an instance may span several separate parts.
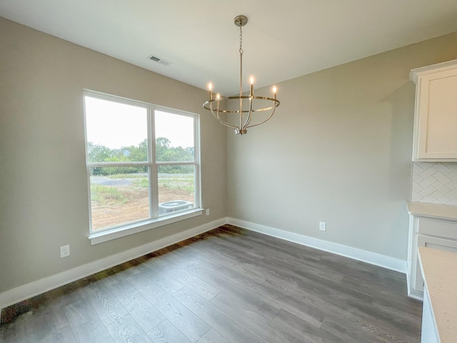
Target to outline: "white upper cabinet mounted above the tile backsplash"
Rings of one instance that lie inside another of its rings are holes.
[[[457,60],[411,70],[413,161],[457,161]]]

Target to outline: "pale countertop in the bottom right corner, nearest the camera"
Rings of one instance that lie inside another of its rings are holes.
[[[419,247],[422,274],[441,343],[457,337],[457,254]]]

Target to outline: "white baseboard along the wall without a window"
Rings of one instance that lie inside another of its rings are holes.
[[[273,227],[266,227],[260,224],[245,222],[240,219],[228,218],[229,224],[236,227],[242,227],[251,231],[259,232],[261,234],[268,234],[268,236],[284,239],[289,242],[306,245],[307,247],[323,250],[324,252],[331,252],[332,254],[341,255],[350,259],[356,259],[361,262],[373,264],[378,267],[391,269],[396,272],[406,274],[407,262],[402,259],[394,259],[381,254],[367,252],[365,250],[347,247],[342,244],[324,241],[323,239],[316,239],[313,237],[304,236],[302,234],[295,234],[281,229],[274,229]]]

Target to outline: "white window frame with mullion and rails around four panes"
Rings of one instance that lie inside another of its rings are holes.
[[[87,140],[87,123],[86,123],[86,96],[96,99],[113,101],[120,104],[143,107],[146,109],[147,116],[147,138],[148,138],[148,161],[121,161],[121,162],[90,162],[88,160],[88,140]],[[200,163],[200,116],[179,109],[156,104],[149,104],[144,101],[126,99],[121,96],[101,93],[84,89],[83,91],[84,106],[84,144],[85,144],[85,163],[89,199],[89,239],[91,245],[107,242],[111,239],[125,237],[130,234],[136,234],[166,224],[179,222],[184,219],[197,217],[203,214],[201,208],[201,163]],[[179,116],[189,116],[194,119],[194,161],[156,161],[156,136],[155,136],[155,111],[162,111]],[[194,207],[192,209],[176,212],[173,214],[159,215],[159,167],[167,165],[192,165],[194,166]],[[149,218],[139,219],[128,224],[119,224],[115,227],[104,229],[92,229],[92,206],[91,206],[91,168],[104,166],[147,166],[149,168]]]

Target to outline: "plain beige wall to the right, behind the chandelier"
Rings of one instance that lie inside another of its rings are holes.
[[[449,34],[278,84],[271,121],[245,136],[228,131],[229,217],[406,260],[409,71],[457,59],[456,41]]]

